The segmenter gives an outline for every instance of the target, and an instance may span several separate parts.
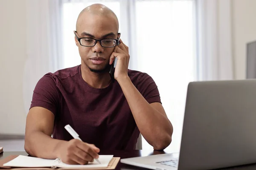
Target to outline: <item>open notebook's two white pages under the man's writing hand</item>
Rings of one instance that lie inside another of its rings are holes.
[[[17,158],[3,164],[5,167],[52,167],[52,168],[68,168],[68,169],[94,169],[106,168],[113,155],[99,155],[99,164],[97,161],[89,162],[86,165],[65,164],[60,159],[41,159],[29,156],[17,156]]]

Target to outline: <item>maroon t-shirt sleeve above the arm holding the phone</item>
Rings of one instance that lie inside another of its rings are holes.
[[[141,73],[137,81],[137,89],[148,103],[161,103],[160,94],[156,83],[148,74]],[[162,103],[161,103],[162,104]]]

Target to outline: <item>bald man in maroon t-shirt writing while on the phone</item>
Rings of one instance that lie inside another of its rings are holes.
[[[38,81],[26,120],[27,153],[87,164],[98,158],[100,149],[135,149],[139,133],[156,150],[170,144],[173,128],[157,85],[148,74],[128,70],[128,47],[119,41],[118,30],[109,8],[93,4],[81,11],[74,31],[81,65]],[[115,57],[112,82],[109,70]],[[64,129],[67,124],[83,142]]]

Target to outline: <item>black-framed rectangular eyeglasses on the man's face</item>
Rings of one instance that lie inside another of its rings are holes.
[[[74,32],[76,35],[76,31]],[[121,36],[121,33],[118,33]],[[85,46],[85,47],[93,47],[94,45],[96,45],[96,43],[99,41],[100,45],[102,47],[115,47],[119,40],[120,40],[120,36],[118,39],[102,39],[102,40],[97,40],[94,38],[79,38],[76,35],[76,39],[79,41],[80,45]]]

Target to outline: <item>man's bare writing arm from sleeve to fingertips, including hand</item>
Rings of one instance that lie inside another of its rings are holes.
[[[67,164],[87,164],[98,158],[99,148],[77,139],[63,141],[52,139],[54,115],[42,107],[33,107],[29,110],[26,119],[25,150],[29,155],[56,159]]]

